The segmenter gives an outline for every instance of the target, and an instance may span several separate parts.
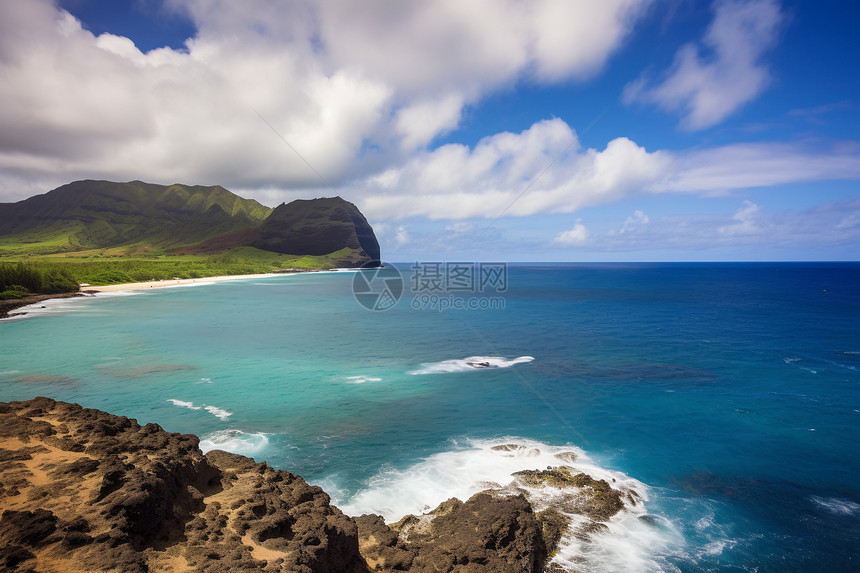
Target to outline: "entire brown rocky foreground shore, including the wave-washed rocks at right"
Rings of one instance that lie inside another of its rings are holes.
[[[48,398],[0,403],[0,571],[560,571],[559,544],[637,501],[566,465],[490,487],[387,525],[265,462],[204,455],[192,435]]]

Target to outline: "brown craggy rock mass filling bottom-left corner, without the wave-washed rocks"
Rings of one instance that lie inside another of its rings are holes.
[[[366,571],[319,487],[195,436],[37,398],[0,404],[0,569]]]

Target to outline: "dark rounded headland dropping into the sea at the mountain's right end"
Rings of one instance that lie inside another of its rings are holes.
[[[290,255],[355,251],[344,266],[379,261],[379,242],[358,207],[340,197],[299,199],[281,204],[258,228],[250,245]]]

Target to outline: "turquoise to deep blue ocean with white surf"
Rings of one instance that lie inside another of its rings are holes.
[[[860,264],[509,265],[443,311],[399,269],[385,311],[351,272],[54,301],[0,322],[0,400],[195,433],[389,520],[572,451],[646,501],[569,570],[860,571]]]

